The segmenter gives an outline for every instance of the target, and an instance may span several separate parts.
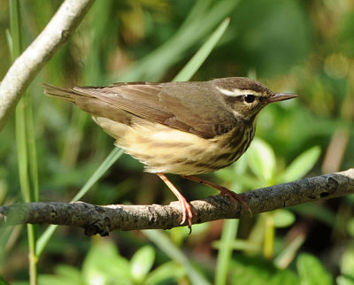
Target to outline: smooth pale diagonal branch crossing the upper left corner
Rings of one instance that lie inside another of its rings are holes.
[[[42,33],[15,60],[0,83],[0,130],[29,83],[66,42],[93,2],[94,0],[66,0]]]

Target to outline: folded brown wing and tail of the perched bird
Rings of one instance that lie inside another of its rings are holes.
[[[235,127],[236,120],[206,82],[118,83],[109,87],[61,89],[45,85],[50,96],[60,96],[96,116],[121,122],[131,115],[212,138]],[[126,113],[124,116],[123,113]],[[127,113],[131,114],[127,116]],[[109,114],[109,116],[108,116]],[[125,118],[120,118],[120,117]]]

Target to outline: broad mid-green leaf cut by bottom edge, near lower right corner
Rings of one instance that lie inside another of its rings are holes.
[[[332,276],[321,265],[319,259],[309,253],[302,253],[297,258],[297,271],[301,284],[306,285],[329,285],[333,284]]]

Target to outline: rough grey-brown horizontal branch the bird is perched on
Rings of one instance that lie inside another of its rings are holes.
[[[354,193],[354,168],[301,181],[293,181],[243,193],[253,214],[269,212]],[[249,215],[227,196],[210,196],[190,202],[196,211],[193,223],[219,219],[238,219]],[[104,205],[87,203],[27,203],[0,207],[0,226],[17,224],[56,224],[83,227],[86,235],[108,235],[114,229],[180,227],[181,207],[168,205]]]

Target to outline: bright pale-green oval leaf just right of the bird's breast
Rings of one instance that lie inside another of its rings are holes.
[[[248,152],[249,165],[258,178],[270,184],[275,173],[275,155],[272,147],[255,138]]]

